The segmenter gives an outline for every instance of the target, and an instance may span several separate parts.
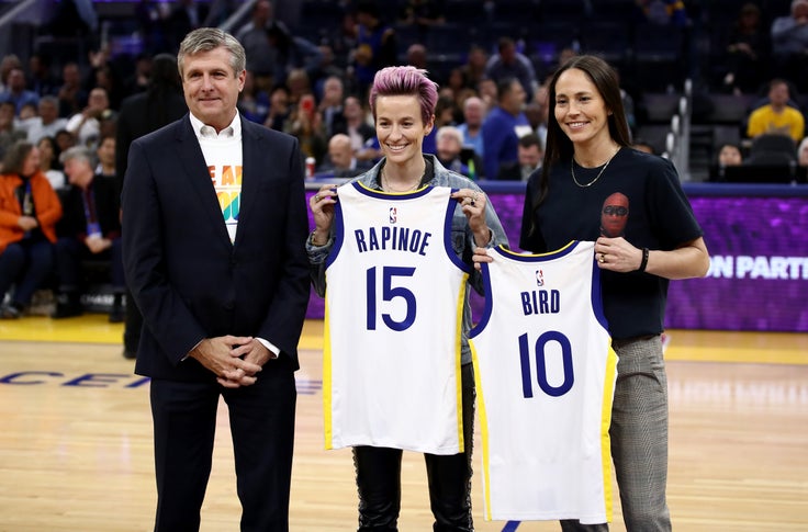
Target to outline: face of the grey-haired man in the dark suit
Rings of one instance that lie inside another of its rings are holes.
[[[221,132],[236,115],[238,93],[244,89],[246,70],[236,73],[231,53],[220,46],[188,55],[182,64],[182,90],[191,113]]]

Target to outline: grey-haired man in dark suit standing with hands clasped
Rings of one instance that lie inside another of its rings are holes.
[[[178,65],[190,114],[132,144],[123,190],[124,268],[146,324],[135,372],[152,377],[155,530],[199,530],[222,396],[240,530],[285,532],[308,302],[300,149],[238,115],[246,57],[232,35],[190,32]]]

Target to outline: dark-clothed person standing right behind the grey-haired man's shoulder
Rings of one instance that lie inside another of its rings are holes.
[[[171,54],[157,54],[150,59],[150,63],[152,73],[146,91],[125,99],[117,116],[115,177],[119,181],[119,190],[123,190],[123,178],[126,174],[126,160],[132,142],[180,120],[188,113],[188,105],[182,98],[182,82],[177,72],[177,57]],[[137,309],[132,294],[127,293],[123,329],[124,358],[135,358],[142,328],[141,310]]]

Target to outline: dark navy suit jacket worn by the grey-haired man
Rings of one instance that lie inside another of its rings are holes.
[[[298,140],[242,117],[242,204],[231,244],[189,115],[135,140],[122,196],[126,282],[143,313],[135,373],[214,380],[202,339],[263,338],[299,367],[308,233]]]

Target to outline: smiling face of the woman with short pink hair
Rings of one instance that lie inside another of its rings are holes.
[[[406,165],[420,159],[424,137],[433,131],[434,123],[431,116],[424,124],[415,95],[380,95],[375,101],[375,134],[390,162]]]

